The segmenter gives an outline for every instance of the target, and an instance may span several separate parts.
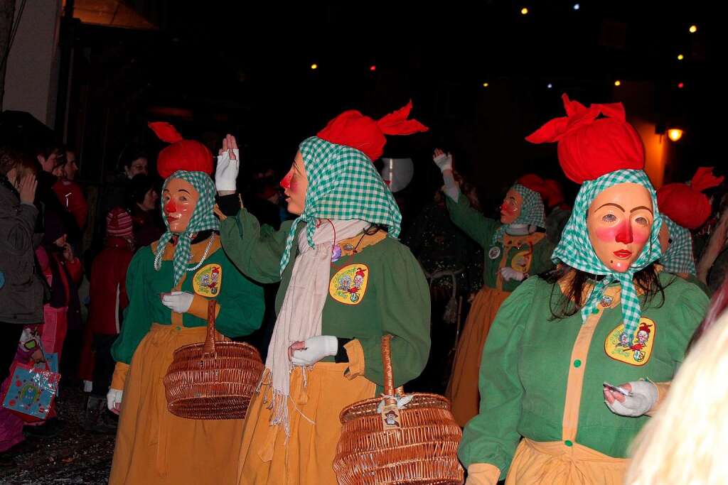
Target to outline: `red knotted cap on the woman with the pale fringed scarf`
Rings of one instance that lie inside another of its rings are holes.
[[[328,122],[317,137],[337,145],[346,145],[363,151],[371,161],[375,161],[384,153],[387,138],[384,135],[412,135],[426,132],[427,127],[414,119],[407,119],[412,110],[412,102],[389,113],[379,121],[364,116],[359,111],[344,111]]]

